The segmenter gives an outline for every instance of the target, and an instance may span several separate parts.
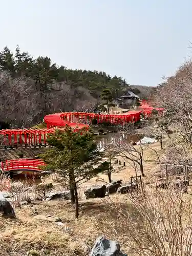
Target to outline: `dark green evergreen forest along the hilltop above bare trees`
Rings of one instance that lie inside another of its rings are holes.
[[[48,84],[65,82],[75,88],[88,89],[94,98],[99,98],[104,88],[110,88],[117,97],[122,89],[128,86],[122,77],[111,77],[105,72],[59,67],[49,57],[39,56],[34,59],[28,52],[21,52],[18,46],[15,56],[9,48],[3,49],[0,53],[0,68],[2,71],[8,71],[13,78],[32,78],[41,90],[46,89]]]

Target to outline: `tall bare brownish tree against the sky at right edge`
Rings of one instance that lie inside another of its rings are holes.
[[[178,136],[192,146],[192,61],[186,61],[153,95],[154,104],[164,106],[169,122],[177,125]]]

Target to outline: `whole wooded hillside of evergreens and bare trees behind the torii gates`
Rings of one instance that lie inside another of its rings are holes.
[[[59,67],[49,57],[35,59],[18,46],[13,54],[5,47],[0,52],[0,124],[29,127],[49,113],[92,108],[105,88],[115,98],[127,87],[121,77]]]

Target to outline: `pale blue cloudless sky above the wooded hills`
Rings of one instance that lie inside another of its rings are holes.
[[[0,49],[156,86],[192,52],[191,0],[1,0]]]

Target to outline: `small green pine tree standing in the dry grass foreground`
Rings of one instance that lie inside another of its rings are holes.
[[[74,132],[69,126],[64,132],[50,134],[47,142],[51,147],[41,155],[47,163],[44,169],[54,169],[61,177],[61,182],[69,185],[71,202],[76,204],[75,216],[78,218],[77,186],[102,172],[98,163],[103,153],[99,151],[90,132]]]

